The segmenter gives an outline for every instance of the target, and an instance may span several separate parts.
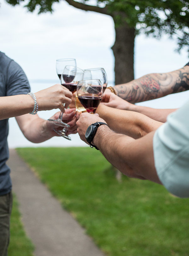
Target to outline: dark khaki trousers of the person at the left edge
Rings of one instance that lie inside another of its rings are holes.
[[[12,193],[0,196],[0,256],[7,256],[10,238]]]

